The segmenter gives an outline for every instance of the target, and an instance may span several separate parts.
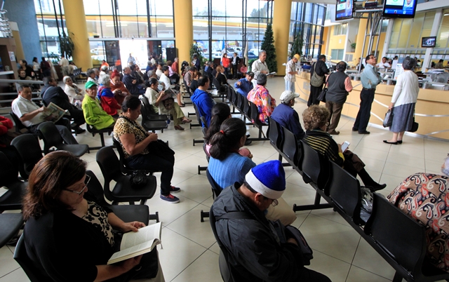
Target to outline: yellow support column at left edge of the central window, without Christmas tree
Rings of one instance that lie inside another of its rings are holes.
[[[175,40],[177,57],[182,61],[191,62],[190,47],[194,43],[194,20],[192,0],[174,0]]]

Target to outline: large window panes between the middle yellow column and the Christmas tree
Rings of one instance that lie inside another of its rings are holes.
[[[225,52],[243,58],[246,44],[248,59],[257,58],[272,9],[273,1],[265,0],[192,0],[194,41],[206,58],[218,59]]]

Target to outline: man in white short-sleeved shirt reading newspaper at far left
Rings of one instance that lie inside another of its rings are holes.
[[[32,133],[37,133],[37,126],[39,123],[46,121],[43,118],[43,112],[46,111],[46,107],[39,107],[35,102],[31,100],[32,92],[29,86],[22,86],[16,84],[18,90],[18,98],[13,100],[11,109],[13,113],[18,116],[24,126],[29,127]],[[67,144],[78,144],[72,135],[70,128],[70,121],[68,119],[60,119],[55,123],[58,128],[62,139]]]

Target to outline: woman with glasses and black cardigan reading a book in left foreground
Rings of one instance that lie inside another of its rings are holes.
[[[69,152],[46,154],[29,175],[23,201],[23,236],[29,260],[43,281],[163,281],[156,248],[107,265],[119,249],[121,232],[138,231],[142,222],[123,222],[86,194],[87,163]],[[112,279],[112,280],[109,280]]]

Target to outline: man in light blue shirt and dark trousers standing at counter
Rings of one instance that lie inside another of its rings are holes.
[[[368,121],[370,121],[371,105],[373,104],[376,86],[382,82],[382,77],[374,69],[377,62],[375,56],[366,56],[365,62],[366,67],[361,75],[363,89],[360,93],[360,108],[358,109],[356,122],[352,126],[352,131],[358,131],[358,134],[370,134],[366,127]]]

